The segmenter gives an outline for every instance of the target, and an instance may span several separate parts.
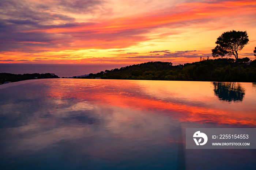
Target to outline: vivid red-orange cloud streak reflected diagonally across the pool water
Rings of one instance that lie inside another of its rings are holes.
[[[173,117],[173,119],[183,122],[240,125],[255,125],[256,123],[255,114],[250,115],[251,112],[248,112],[248,115],[244,115],[243,112],[235,108],[230,110],[230,108],[193,106],[191,104],[177,104],[155,100],[154,98],[132,96],[126,98],[114,94],[101,95],[99,102],[100,101],[103,101],[104,104],[121,107],[123,109],[133,108],[135,110],[153,112],[158,115],[169,115]]]

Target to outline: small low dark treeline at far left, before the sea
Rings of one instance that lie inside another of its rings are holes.
[[[5,81],[22,81],[22,80],[30,80],[35,78],[60,78],[52,73],[33,73],[33,74],[11,74],[11,73],[0,73],[0,84],[4,84]]]

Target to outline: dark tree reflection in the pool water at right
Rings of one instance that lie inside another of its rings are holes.
[[[213,82],[214,94],[219,100],[225,101],[242,101],[245,94],[245,89],[235,82]]]

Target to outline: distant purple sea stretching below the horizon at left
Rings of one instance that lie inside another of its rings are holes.
[[[54,73],[61,77],[82,76],[105,70],[120,69],[127,64],[0,64],[0,73]]]

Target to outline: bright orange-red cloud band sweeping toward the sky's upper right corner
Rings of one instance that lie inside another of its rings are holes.
[[[98,34],[113,31],[140,29],[148,27],[159,27],[165,24],[184,22],[196,19],[218,18],[223,15],[247,15],[252,14],[252,9],[256,9],[251,5],[256,5],[255,1],[224,1],[218,3],[183,3],[178,4],[174,8],[166,9],[166,13],[161,11],[155,12],[155,15],[143,14],[139,16],[131,16],[127,18],[117,18],[110,20],[97,20],[95,24],[77,24],[72,28],[50,28],[45,31],[49,33],[69,33],[69,32],[85,32],[95,31]],[[218,7],[218,8],[216,8]],[[221,8],[220,8],[221,7]],[[248,11],[247,8],[250,8]],[[182,11],[182,12],[174,12]],[[158,14],[159,13],[159,14]],[[102,31],[102,32],[101,32]]]

